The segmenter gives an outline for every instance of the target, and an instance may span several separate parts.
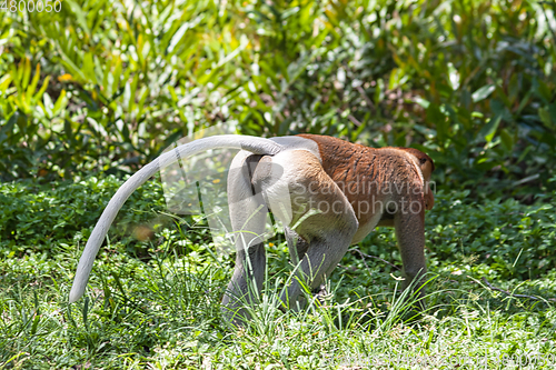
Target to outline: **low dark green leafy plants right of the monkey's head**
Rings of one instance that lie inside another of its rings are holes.
[[[440,193],[427,216],[433,256],[475,256],[503,278],[532,279],[556,263],[554,202],[524,206],[514,199],[476,203],[469,191]]]

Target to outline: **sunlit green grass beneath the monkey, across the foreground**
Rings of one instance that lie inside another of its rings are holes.
[[[103,192],[119,184],[110,178],[96,183]],[[13,187],[21,184],[4,183],[3,191]],[[160,187],[152,181],[143,188],[123,211],[131,216],[120,216],[120,226],[135,217],[152,217],[145,207],[160,197]],[[48,198],[51,188],[40,189],[36,196]],[[427,220],[445,217],[443,227],[448,228],[451,221],[443,204],[457,196],[439,193],[438,209]],[[465,203],[465,198],[458,201]],[[520,207],[537,210],[537,206]],[[473,206],[467,212],[474,214]],[[454,213],[463,223],[473,223],[465,210],[456,208]],[[48,214],[42,217],[48,223]],[[90,226],[73,241],[52,243],[42,252],[9,247],[12,240],[4,237],[0,369],[548,369],[556,364],[555,303],[509,297],[481,280],[515,293],[550,298],[556,297],[556,272],[527,279],[515,271],[508,277],[503,266],[468,253],[469,246],[445,257],[440,238],[445,231],[435,231],[431,224],[427,227],[428,309],[420,317],[411,318],[408,301],[399,293],[399,257],[391,231],[379,229],[357,249],[391,266],[363,259],[354,250],[328,281],[324,302],[314,301],[299,312],[276,309],[290,269],[285,242],[279,237],[271,240],[265,292],[250,323],[237,329],[224,322],[219,304],[232,271],[231,257],[210,253],[203,229],[162,223],[153,228],[153,240],[142,242],[130,241],[120,227],[112,228],[85,299],[72,306],[67,297]],[[530,232],[553,229],[533,224]]]

